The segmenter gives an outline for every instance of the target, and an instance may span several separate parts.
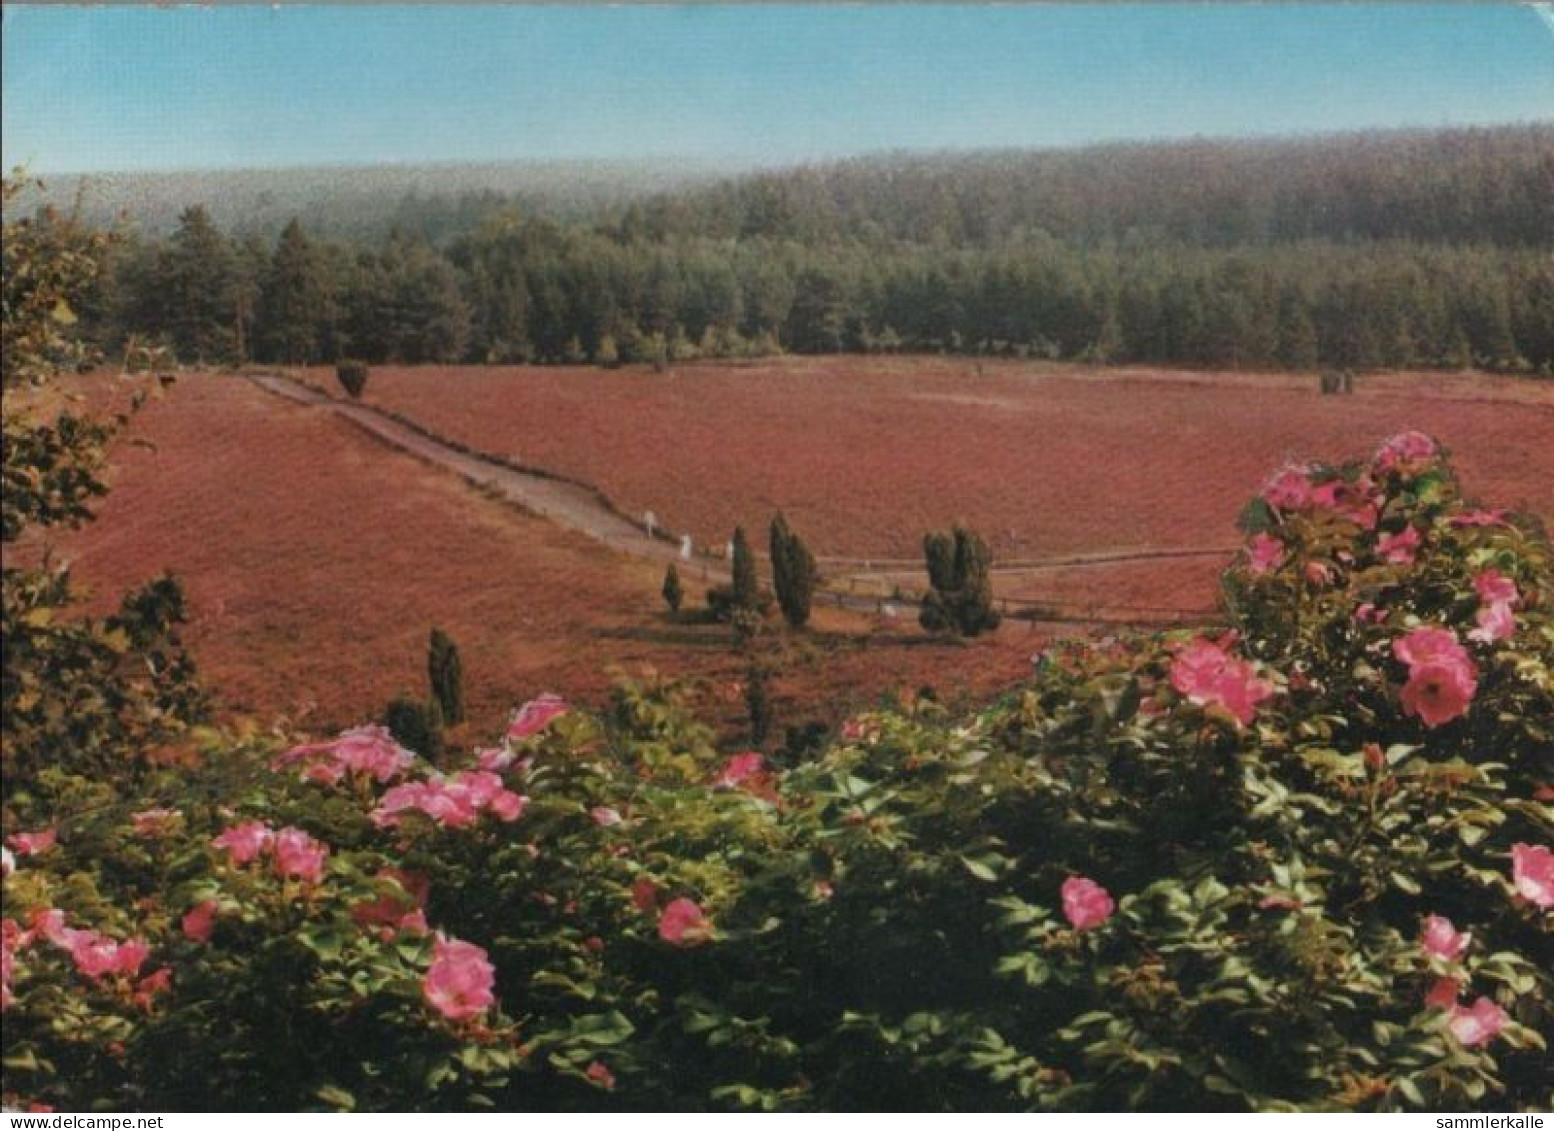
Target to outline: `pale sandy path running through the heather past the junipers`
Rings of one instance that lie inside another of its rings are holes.
[[[333,412],[390,447],[444,471],[452,471],[480,491],[587,534],[612,550],[665,564],[674,562],[687,575],[707,583],[723,584],[729,581],[729,562],[723,553],[701,547],[693,552],[692,558],[685,558],[681,550],[681,534],[659,525],[654,525],[650,533],[643,522],[623,514],[595,486],[539,468],[521,468],[494,455],[471,451],[454,440],[429,432],[412,419],[371,405],[339,401],[283,373],[250,371],[242,376],[275,396]],[[1099,552],[1004,562],[995,566],[993,573],[1018,575],[1166,558],[1228,556],[1229,553],[1231,548]],[[766,569],[763,555],[757,553],[757,561]],[[923,566],[920,561],[824,556],[817,561],[833,569],[844,567],[824,589],[814,593],[817,603],[881,615],[898,615],[918,604],[912,589],[922,584]],[[999,597],[996,604],[1007,618],[1029,621],[1032,626],[1037,623],[1058,626],[1190,623],[1214,615],[1212,609],[1204,607],[1111,603],[1060,607],[1057,603],[1040,598],[1015,597]]]

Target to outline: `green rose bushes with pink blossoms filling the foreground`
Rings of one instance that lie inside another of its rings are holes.
[[[460,769],[376,727],[62,746],[6,802],[5,1089],[1546,1108],[1546,538],[1419,435],[1245,520],[1225,634],[1058,648],[782,774],[634,687],[538,699]]]

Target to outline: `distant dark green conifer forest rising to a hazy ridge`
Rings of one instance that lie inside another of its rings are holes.
[[[278,233],[191,202],[166,235],[126,227],[87,322],[186,364],[940,351],[1554,374],[1554,126],[547,191],[347,197],[348,225],[314,199]]]

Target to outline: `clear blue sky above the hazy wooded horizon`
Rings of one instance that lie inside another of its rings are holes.
[[[34,172],[1052,146],[1554,120],[1478,5],[3,9]]]

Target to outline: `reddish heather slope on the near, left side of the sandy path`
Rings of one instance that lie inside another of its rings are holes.
[[[109,388],[85,392],[106,405]],[[183,637],[228,718],[320,733],[376,718],[401,690],[421,691],[434,625],[463,652],[477,738],[545,690],[601,702],[617,671],[698,679],[710,718],[743,718],[727,629],[670,623],[662,567],[482,497],[320,410],[196,374],[151,402],[110,458],[98,520],[57,536],[56,552],[95,611],[172,570],[193,611]],[[687,579],[699,606],[702,584]],[[987,691],[1027,671],[1043,639],[1019,625],[946,645],[911,615],[822,609],[774,680],[779,721],[834,721],[923,682]]]

